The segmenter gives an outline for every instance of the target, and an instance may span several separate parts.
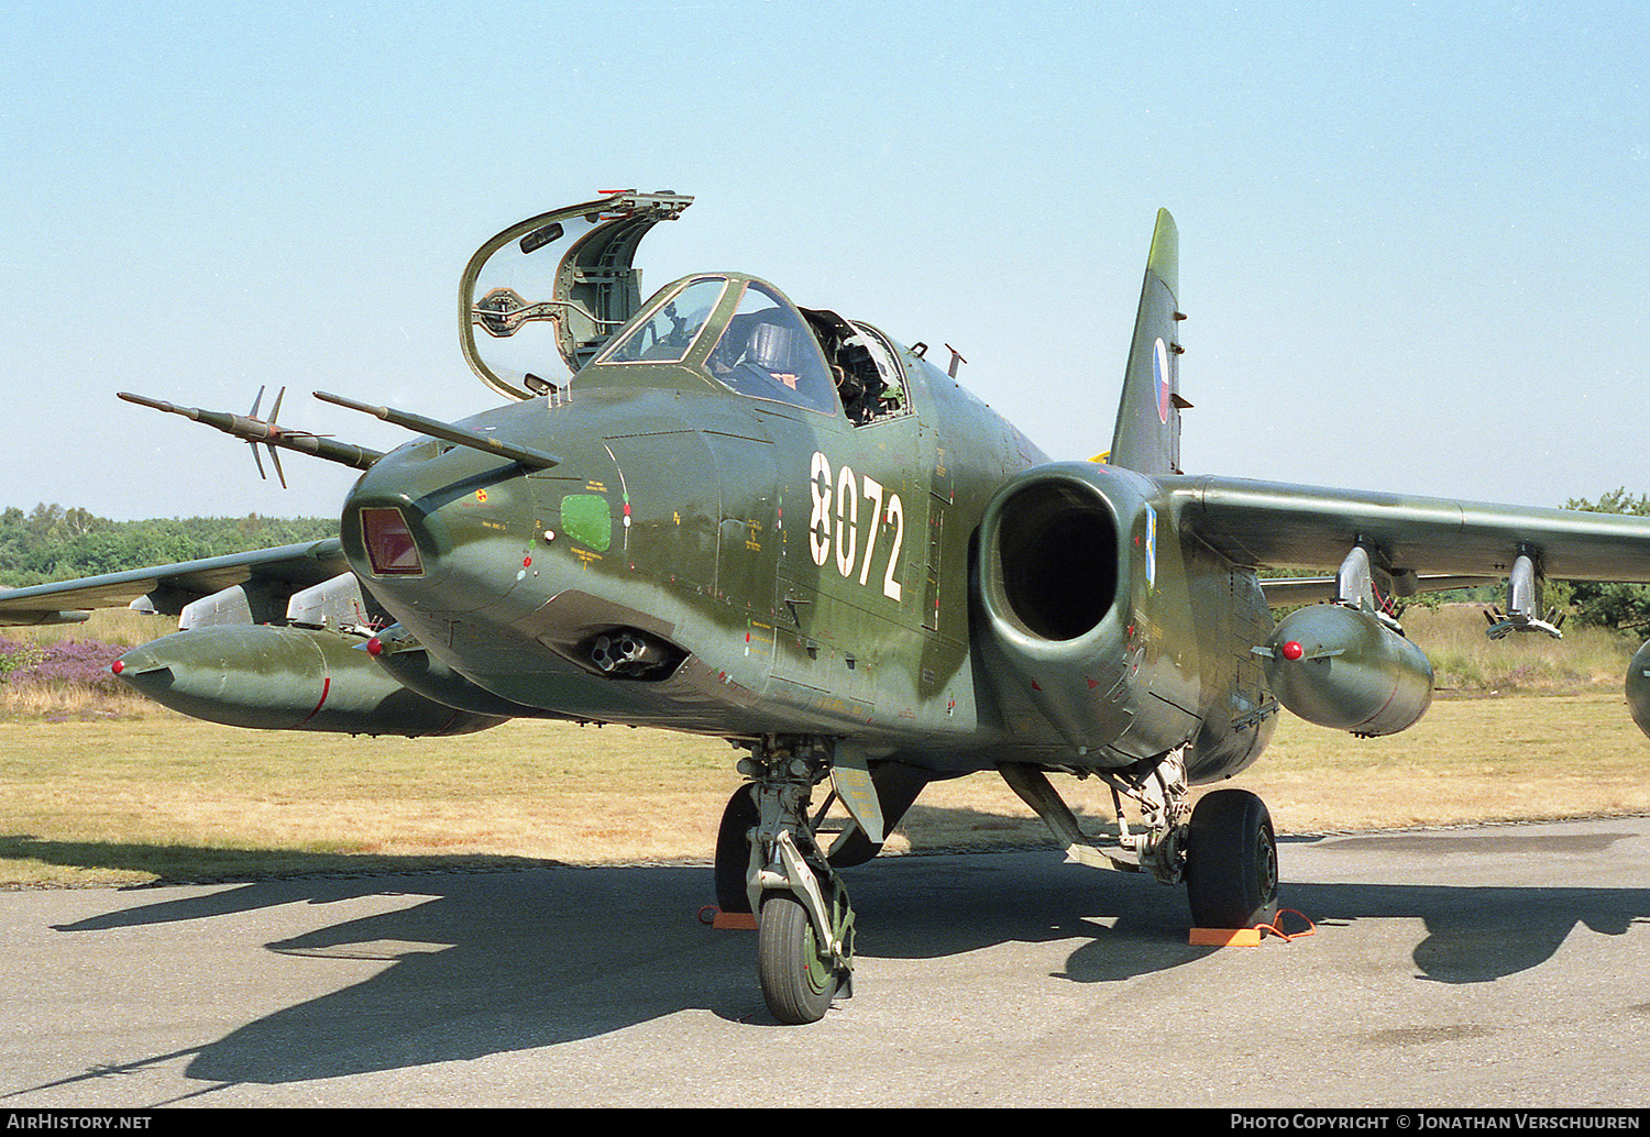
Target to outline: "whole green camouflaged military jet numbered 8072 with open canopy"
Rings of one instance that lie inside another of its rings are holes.
[[[1650,581],[1650,518],[1183,474],[1167,211],[1110,451],[1053,462],[955,358],[940,370],[766,281],[695,274],[644,304],[637,244],[690,201],[612,193],[487,241],[459,322],[502,406],[441,422],[317,393],[417,434],[388,454],[257,404],[122,396],[254,455],[361,469],[338,538],[15,589],[0,622],[177,614],[114,670],[239,726],[540,716],[726,738],[747,782],[718,833],[718,901],[757,922],[772,1015],[804,1023],[848,990],[840,870],[927,782],[997,771],[1071,856],[1185,881],[1195,924],[1249,927],[1277,903],[1266,805],[1219,789],[1193,809],[1188,787],[1254,762],[1279,706],[1366,736],[1419,719],[1432,668],[1396,599],[1506,579],[1490,634],[1559,634],[1548,574]],[[1269,566],[1333,574],[1259,579]],[[1272,606],[1308,599],[1274,627]],[[1640,652],[1629,696],[1650,731],[1647,672]],[[1086,837],[1049,772],[1104,781],[1117,838]],[[833,842],[825,792],[851,815]]]

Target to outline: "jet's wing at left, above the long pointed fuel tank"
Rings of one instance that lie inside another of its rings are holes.
[[[236,584],[267,581],[290,594],[348,571],[338,538],[208,556],[10,589],[0,592],[0,625],[73,624],[86,619],[84,609],[119,607],[144,596],[155,601],[157,611],[175,614],[183,604]]]

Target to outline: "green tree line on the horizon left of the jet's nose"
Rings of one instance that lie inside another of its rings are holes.
[[[183,517],[111,521],[81,507],[0,512],[0,586],[25,587],[338,535],[337,518]]]

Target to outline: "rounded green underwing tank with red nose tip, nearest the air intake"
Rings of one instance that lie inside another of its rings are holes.
[[[1432,705],[1432,663],[1368,612],[1313,604],[1290,612],[1266,649],[1266,678],[1290,711],[1373,738],[1414,726]]]

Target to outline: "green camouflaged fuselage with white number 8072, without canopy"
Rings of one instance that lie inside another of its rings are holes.
[[[1092,566],[1124,583],[1117,602],[1084,635],[1056,634],[1054,655],[1071,640],[1082,658],[1051,658],[1041,683],[1043,663],[993,634],[977,566],[988,503],[1046,459],[919,353],[898,356],[901,413],[860,426],[736,394],[695,356],[586,366],[558,399],[464,424],[556,465],[409,442],[351,492],[345,553],[419,645],[523,708],[851,738],[934,771],[1125,767],[1188,739],[1196,779],[1252,761],[1275,706],[1249,655],[1270,627],[1252,574],[1180,548],[1155,482],[1072,464],[1107,500],[1157,502],[1155,548]],[[406,518],[416,574],[378,573],[366,553],[363,510],[386,507]],[[1072,566],[1074,589],[1096,587],[1086,571]],[[604,673],[591,644],[615,629],[680,660]],[[1061,706],[1043,698],[1051,685]]]

